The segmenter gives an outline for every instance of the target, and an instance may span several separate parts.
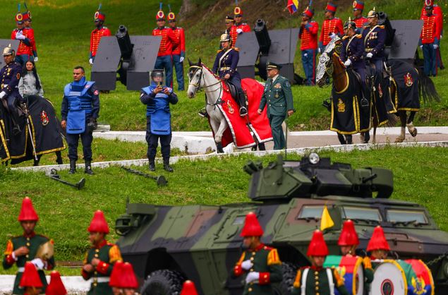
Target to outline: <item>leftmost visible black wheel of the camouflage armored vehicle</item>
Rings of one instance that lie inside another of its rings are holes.
[[[142,295],[181,294],[183,277],[174,270],[151,272],[142,287]]]

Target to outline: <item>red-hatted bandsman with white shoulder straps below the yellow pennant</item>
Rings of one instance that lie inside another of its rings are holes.
[[[349,294],[344,286],[344,278],[339,275],[338,270],[323,267],[325,257],[328,255],[328,248],[322,231],[315,230],[313,232],[306,255],[311,260],[311,266],[297,271],[291,294],[330,295],[334,294],[334,289],[337,289],[341,295]]]

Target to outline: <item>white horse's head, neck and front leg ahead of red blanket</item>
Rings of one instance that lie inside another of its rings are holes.
[[[205,110],[210,118],[210,125],[214,133],[214,142],[217,146],[217,152],[224,152],[222,148],[222,135],[229,127],[224,114],[217,105],[221,102],[223,89],[222,80],[202,64],[199,59],[198,64],[192,64],[190,61],[188,69],[188,90],[187,95],[190,98],[195,97],[198,90],[203,89],[207,97],[207,105]]]

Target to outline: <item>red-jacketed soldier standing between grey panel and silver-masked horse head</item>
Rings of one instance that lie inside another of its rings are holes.
[[[303,71],[305,72],[305,85],[311,86],[316,83],[316,55],[317,55],[317,33],[319,24],[313,20],[314,11],[307,7],[302,13],[301,28],[298,37],[301,39],[301,52]]]

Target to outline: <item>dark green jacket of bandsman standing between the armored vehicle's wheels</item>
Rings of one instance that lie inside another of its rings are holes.
[[[253,267],[250,270],[243,270],[241,267],[241,263],[245,260],[252,261]],[[245,284],[243,295],[272,295],[271,283],[280,282],[282,278],[281,261],[277,249],[261,244],[255,250],[244,251],[234,267],[234,275],[239,277],[249,272],[260,272],[260,279],[258,282]]]

